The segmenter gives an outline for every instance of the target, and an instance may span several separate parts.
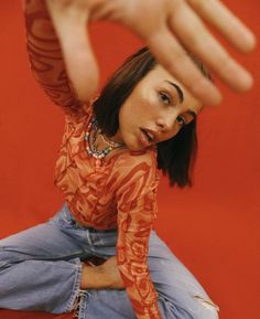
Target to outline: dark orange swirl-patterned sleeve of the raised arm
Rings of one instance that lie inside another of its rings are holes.
[[[84,115],[66,74],[59,42],[43,0],[25,0],[26,46],[31,70],[54,104],[66,114]]]

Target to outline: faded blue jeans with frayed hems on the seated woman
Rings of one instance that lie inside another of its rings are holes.
[[[66,204],[50,222],[0,241],[0,308],[73,311],[79,319],[137,318],[126,290],[79,289],[80,260],[116,255],[117,231],[78,225]],[[162,318],[217,319],[217,306],[153,231],[149,269]]]

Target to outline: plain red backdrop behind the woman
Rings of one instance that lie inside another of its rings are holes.
[[[225,3],[259,33],[258,0]],[[63,115],[30,74],[20,7],[0,3],[0,237],[46,221],[63,202],[53,185]],[[140,42],[106,23],[93,25],[91,34],[104,83]],[[194,187],[170,189],[163,180],[159,193],[158,233],[201,280],[223,319],[259,316],[258,56],[259,50],[247,59],[236,54],[253,73],[253,89],[236,95],[221,86],[224,103],[199,118]],[[52,318],[6,310],[0,317]]]

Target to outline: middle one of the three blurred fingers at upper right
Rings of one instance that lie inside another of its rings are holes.
[[[228,54],[191,7],[180,8],[171,18],[170,28],[185,47],[215,71],[231,89],[245,92],[251,87],[251,75]]]

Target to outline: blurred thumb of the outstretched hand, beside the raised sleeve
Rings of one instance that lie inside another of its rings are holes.
[[[58,2],[47,1],[50,14],[61,42],[66,71],[82,102],[88,102],[98,86],[98,65],[87,32],[88,12],[61,10]]]

